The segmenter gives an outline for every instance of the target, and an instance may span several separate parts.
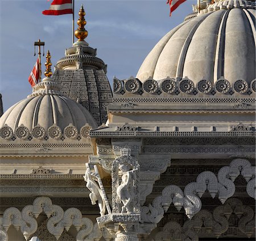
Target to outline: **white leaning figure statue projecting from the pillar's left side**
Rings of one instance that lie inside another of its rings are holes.
[[[87,164],[87,163],[86,163]],[[106,213],[106,204],[104,201],[103,197],[103,193],[100,189],[100,187],[98,186],[98,184],[96,183],[96,181],[94,179],[96,179],[96,177],[94,177],[94,174],[92,171],[90,171],[89,165],[87,166],[85,175],[84,175],[84,180],[86,181],[86,187],[90,190],[90,201],[92,201],[92,205],[96,204],[96,201],[98,201],[98,206],[100,208],[100,214],[104,215]]]

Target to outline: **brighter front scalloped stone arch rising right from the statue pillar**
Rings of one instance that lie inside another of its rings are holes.
[[[234,195],[236,187],[234,180],[242,175],[247,181],[246,191],[255,198],[255,166],[251,166],[246,159],[234,159],[229,166],[222,167],[217,176],[210,171],[201,172],[196,182],[189,183],[184,192],[176,185],[169,185],[163,189],[162,196],[156,197],[152,205],[141,208],[143,222],[158,223],[173,203],[177,210],[182,207],[189,219],[201,210],[201,196],[208,191],[212,198],[218,193],[218,199],[225,201]]]

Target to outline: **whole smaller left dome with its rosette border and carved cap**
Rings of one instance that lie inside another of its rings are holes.
[[[51,78],[44,78],[36,84],[31,95],[14,104],[2,115],[0,136],[4,139],[11,138],[13,134],[20,139],[27,139],[31,135],[37,139],[46,136],[58,139],[64,134],[72,139],[85,126],[97,128],[89,111],[61,95],[59,89]],[[83,131],[86,130],[87,128]]]

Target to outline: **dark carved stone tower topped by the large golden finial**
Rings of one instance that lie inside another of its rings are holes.
[[[53,73],[53,79],[61,84],[61,94],[83,105],[92,114],[98,125],[105,123],[106,107],[112,102],[112,90],[106,77],[106,65],[96,57],[97,49],[84,41],[84,9],[79,11],[79,28],[76,30],[76,43],[65,50]]]

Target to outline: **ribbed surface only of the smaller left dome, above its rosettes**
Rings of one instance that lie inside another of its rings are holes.
[[[93,117],[82,105],[65,96],[41,95],[21,100],[10,107],[0,119],[0,128],[7,124],[15,130],[23,124],[31,131],[36,125],[47,130],[53,124],[61,129],[72,124],[80,130],[86,123],[97,128]]]

